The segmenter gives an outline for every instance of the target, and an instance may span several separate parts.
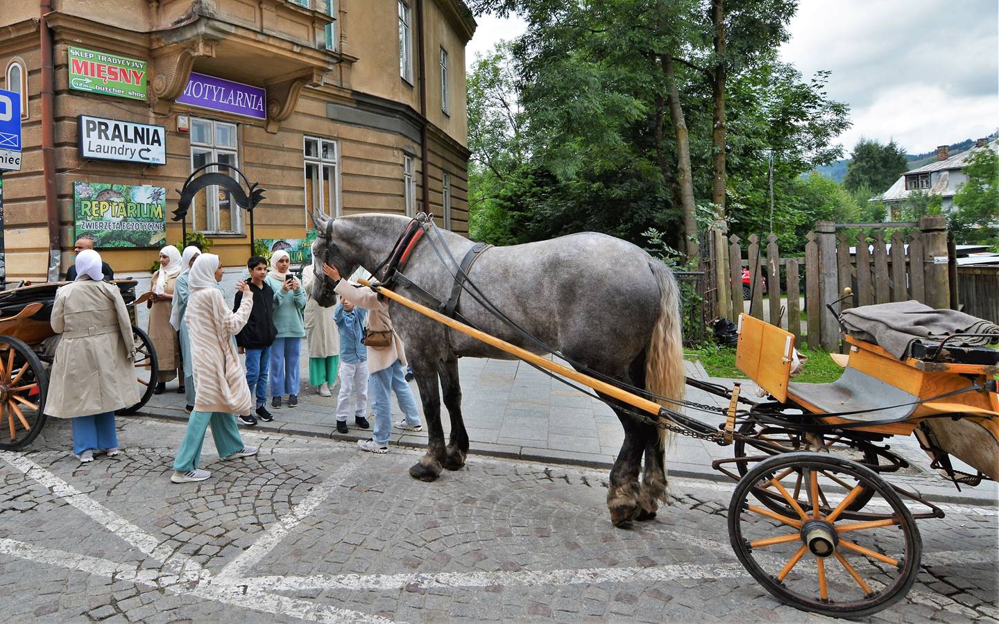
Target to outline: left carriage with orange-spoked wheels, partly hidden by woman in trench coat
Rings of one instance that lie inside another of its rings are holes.
[[[45,425],[48,367],[59,339],[49,319],[56,290],[65,284],[45,283],[0,292],[0,449],[29,444]],[[134,310],[136,281],[116,280],[114,284]],[[139,303],[142,301],[140,298]],[[133,413],[149,401],[159,372],[149,335],[135,324],[132,335],[140,400],[121,409],[121,414]]]

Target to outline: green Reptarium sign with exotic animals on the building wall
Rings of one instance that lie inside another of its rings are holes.
[[[167,192],[160,187],[73,183],[75,238],[94,237],[94,247],[163,247]]]

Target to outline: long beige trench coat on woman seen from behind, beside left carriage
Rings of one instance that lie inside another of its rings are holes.
[[[132,321],[113,284],[90,279],[56,291],[52,328],[62,337],[49,372],[45,413],[73,418],[139,402]]]

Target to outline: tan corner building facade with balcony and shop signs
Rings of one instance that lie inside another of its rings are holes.
[[[65,275],[81,226],[118,229],[96,231],[116,274],[148,271],[212,162],[266,189],[269,244],[305,239],[313,208],[427,210],[468,232],[462,0],[42,0],[5,3],[0,27],[0,89],[26,96],[21,170],[3,177],[8,281]],[[164,210],[163,231],[131,223]],[[187,228],[224,266],[251,255],[249,215],[220,187]]]

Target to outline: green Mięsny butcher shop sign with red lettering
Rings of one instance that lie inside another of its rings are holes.
[[[132,100],[146,99],[146,62],[69,48],[69,88]]]

